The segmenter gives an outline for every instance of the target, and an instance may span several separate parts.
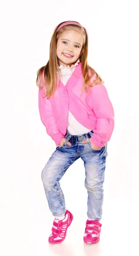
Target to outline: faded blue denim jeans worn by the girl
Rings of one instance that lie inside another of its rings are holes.
[[[59,181],[69,166],[81,157],[84,161],[85,187],[88,193],[87,217],[101,220],[107,143],[103,148],[94,150],[89,141],[91,136],[93,131],[81,135],[71,135],[67,131],[64,145],[61,148],[56,147],[42,170],[41,178],[45,195],[49,209],[55,217],[62,216],[66,212],[64,194]],[[87,143],[83,144],[84,140],[87,140]],[[71,146],[67,145],[68,141],[72,143]]]

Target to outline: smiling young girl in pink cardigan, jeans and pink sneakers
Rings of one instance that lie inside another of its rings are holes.
[[[60,23],[52,35],[49,61],[38,70],[39,111],[56,150],[41,178],[55,217],[49,243],[61,243],[73,215],[66,209],[59,181],[78,158],[84,161],[88,193],[85,243],[99,241],[107,142],[114,111],[104,82],[87,63],[87,30],[78,22]]]

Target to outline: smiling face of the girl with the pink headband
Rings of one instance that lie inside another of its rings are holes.
[[[83,35],[78,30],[67,30],[58,38],[56,54],[58,65],[70,66],[78,60],[83,45]]]

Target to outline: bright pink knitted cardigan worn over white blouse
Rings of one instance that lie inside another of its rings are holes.
[[[40,81],[40,86],[43,85],[43,81]],[[57,84],[58,81],[57,78]],[[83,81],[80,62],[66,86],[60,81],[54,97],[46,99],[43,97],[46,90],[39,89],[41,121],[57,146],[66,134],[68,109],[81,125],[94,131],[91,140],[97,147],[103,147],[113,133],[114,111],[104,84],[89,87],[90,93],[84,90],[80,97]]]

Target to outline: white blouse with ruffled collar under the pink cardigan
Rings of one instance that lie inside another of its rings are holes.
[[[67,81],[69,80],[69,77],[72,75],[72,73],[75,70],[75,67],[78,66],[78,63],[80,62],[80,59],[76,61],[74,65],[69,66],[59,66],[60,69],[60,80],[61,82],[66,85]],[[58,73],[58,72],[57,72]],[[68,111],[68,116],[67,116],[67,131],[69,131],[70,134],[72,135],[78,135],[78,134],[85,134],[88,133],[90,130],[81,125],[75,117],[72,115],[70,111]]]

